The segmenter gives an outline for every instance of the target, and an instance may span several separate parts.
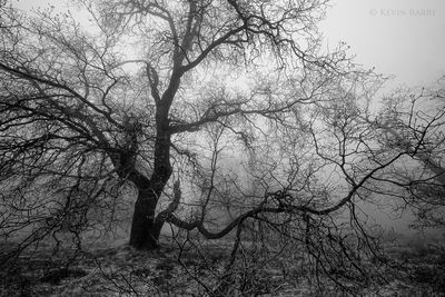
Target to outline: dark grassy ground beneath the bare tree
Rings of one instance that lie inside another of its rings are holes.
[[[234,277],[224,269],[230,259],[227,241],[197,247],[164,238],[161,245],[157,251],[137,251],[120,238],[87,242],[81,253],[53,253],[47,242],[0,271],[0,296],[207,296],[218,288],[225,288],[221,295],[240,296],[241,286],[244,295],[336,295],[329,288],[319,291],[298,255],[261,261],[258,254],[257,259],[244,261]],[[405,273],[388,277],[389,283],[378,288],[364,289],[362,296],[445,296],[443,248],[388,244],[387,250],[404,263]],[[225,279],[230,279],[226,286]]]

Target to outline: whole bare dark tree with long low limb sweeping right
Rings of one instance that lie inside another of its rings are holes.
[[[136,199],[137,249],[166,222],[233,239],[215,294],[253,293],[243,250],[296,248],[317,279],[373,283],[384,258],[360,205],[429,180],[400,172],[409,158],[439,168],[443,109],[373,116],[378,77],[320,50],[323,0],[76,2],[89,32],[68,12],[1,7],[3,237],[78,238]]]

